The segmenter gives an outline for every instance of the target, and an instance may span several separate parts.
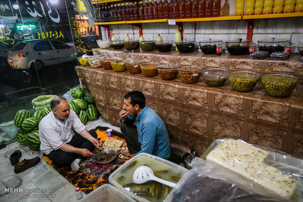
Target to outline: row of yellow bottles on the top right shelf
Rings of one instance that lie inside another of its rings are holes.
[[[236,16],[244,14],[244,1],[236,0]],[[303,0],[246,0],[245,15],[303,12]]]

